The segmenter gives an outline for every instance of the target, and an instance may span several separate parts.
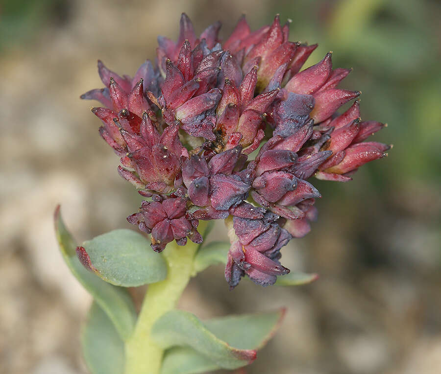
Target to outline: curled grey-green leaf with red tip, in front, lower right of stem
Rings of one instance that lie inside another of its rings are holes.
[[[160,347],[190,346],[223,369],[237,369],[256,359],[255,350],[231,347],[216,337],[193,314],[171,310],[151,328],[151,337]]]

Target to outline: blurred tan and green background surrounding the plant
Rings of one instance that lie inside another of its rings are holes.
[[[319,43],[354,68],[365,120],[388,122],[374,140],[389,157],[352,182],[313,181],[319,220],[282,251],[297,288],[243,281],[223,268],[192,280],[179,306],[201,318],[286,306],[282,328],[246,373],[441,373],[441,3],[357,1],[0,1],[0,373],[82,374],[79,330],[90,296],[58,253],[57,203],[78,241],[116,228],[139,206],[79,95],[101,87],[100,58],[133,74],[173,39],[185,11],[197,32],[242,13],[253,29],[280,13],[292,41]],[[209,239],[224,239],[218,222]],[[243,372],[245,373],[245,372]]]

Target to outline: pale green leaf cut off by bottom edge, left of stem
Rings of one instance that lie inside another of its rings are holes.
[[[93,303],[81,336],[83,355],[92,374],[123,374],[124,342],[112,321]]]

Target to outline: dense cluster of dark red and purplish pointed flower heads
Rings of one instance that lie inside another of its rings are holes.
[[[290,42],[278,16],[253,32],[243,17],[223,42],[219,29],[197,37],[183,14],[177,42],[158,38],[155,66],[130,78],[98,61],[105,88],[81,97],[105,106],[92,109],[99,132],[147,198],[127,219],[151,233],[153,250],[199,243],[200,219],[225,219],[230,287],[244,275],[273,284],[289,272],[280,248],[317,217],[307,180],[348,181],[389,147],[365,141],[384,125],[362,121],[358,101],[337,114],[360,94],[337,88],[350,70],[332,69],[328,53],[300,71],[317,45]]]

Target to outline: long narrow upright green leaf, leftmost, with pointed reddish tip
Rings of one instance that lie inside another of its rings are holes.
[[[127,290],[106,283],[86,270],[76,257],[76,244],[64,225],[59,206],[55,210],[54,219],[58,244],[69,269],[107,314],[120,336],[127,339],[136,322],[135,307]]]

